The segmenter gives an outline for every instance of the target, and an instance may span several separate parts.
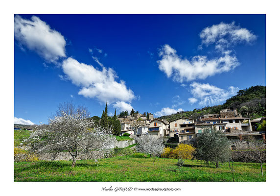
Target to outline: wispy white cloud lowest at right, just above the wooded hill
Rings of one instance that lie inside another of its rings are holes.
[[[191,104],[199,100],[199,105],[220,104],[228,98],[236,95],[239,91],[238,87],[230,86],[227,90],[216,86],[193,82],[190,84],[191,94],[193,98],[189,98]]]

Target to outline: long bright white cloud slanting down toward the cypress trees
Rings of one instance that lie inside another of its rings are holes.
[[[86,98],[97,98],[100,102],[131,102],[135,98],[131,89],[127,89],[125,82],[116,81],[117,74],[111,68],[95,69],[92,65],[79,63],[68,58],[62,63],[62,70],[73,84],[81,87],[78,92]]]

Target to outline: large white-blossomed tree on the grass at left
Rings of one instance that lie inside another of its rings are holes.
[[[62,115],[49,119],[48,124],[39,125],[26,141],[30,150],[50,152],[54,156],[67,150],[73,158],[72,168],[75,167],[76,159],[82,157],[97,161],[100,153],[111,150],[116,138],[110,129],[94,126],[85,113],[62,112]]]

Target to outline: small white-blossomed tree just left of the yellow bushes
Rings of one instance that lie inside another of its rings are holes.
[[[153,135],[141,135],[136,139],[136,150],[138,152],[149,153],[155,157],[159,157],[163,153],[163,137],[156,137]]]

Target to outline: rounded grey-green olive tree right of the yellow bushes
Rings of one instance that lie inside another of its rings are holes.
[[[228,138],[220,130],[205,129],[197,136],[196,158],[204,160],[208,165],[213,163],[216,168],[219,162],[227,162],[231,156]]]

